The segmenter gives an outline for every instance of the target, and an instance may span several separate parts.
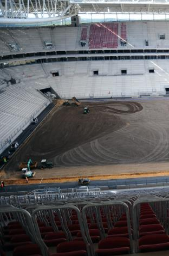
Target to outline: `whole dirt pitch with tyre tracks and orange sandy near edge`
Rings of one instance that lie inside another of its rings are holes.
[[[90,108],[87,115],[85,106]],[[107,101],[55,108],[1,177],[9,182],[19,179],[18,165],[29,158],[47,159],[55,166],[36,170],[34,180],[168,174],[169,101]]]

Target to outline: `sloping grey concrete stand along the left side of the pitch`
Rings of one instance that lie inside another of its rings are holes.
[[[25,88],[24,83],[13,84],[0,94],[1,151],[9,145],[40,114],[50,101],[35,88]]]

